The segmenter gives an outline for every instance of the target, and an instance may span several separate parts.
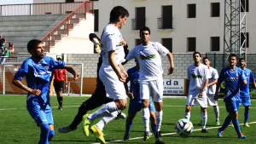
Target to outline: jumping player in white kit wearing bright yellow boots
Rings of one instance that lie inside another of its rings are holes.
[[[102,66],[99,77],[105,86],[109,98],[114,101],[108,102],[105,106],[93,112],[86,114],[84,118],[84,134],[89,135],[90,131],[96,136],[96,140],[105,143],[102,129],[120,111],[126,107],[126,93],[124,82],[128,76],[125,72],[122,62],[125,61],[124,38],[119,29],[125,25],[125,20],[129,16],[127,9],[121,6],[114,7],[110,12],[110,21],[102,32]],[[93,120],[103,117],[96,125],[90,126]]]

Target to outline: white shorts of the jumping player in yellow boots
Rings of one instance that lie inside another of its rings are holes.
[[[124,83],[119,81],[118,76],[111,66],[103,65],[100,68],[99,77],[105,86],[107,96],[113,100],[124,100],[127,95]]]

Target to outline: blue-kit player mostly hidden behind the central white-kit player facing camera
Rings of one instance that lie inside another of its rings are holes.
[[[124,140],[129,140],[131,124],[133,123],[133,118],[135,118],[137,112],[141,111],[143,108],[142,101],[140,100],[140,66],[137,59],[135,59],[136,66],[130,68],[127,71],[128,78],[126,78],[125,89],[127,95],[130,97],[130,104],[128,109],[128,117],[126,118],[125,124],[125,137]],[[128,91],[127,83],[130,81],[130,91]],[[150,111],[150,120],[151,120],[151,129],[155,134],[156,130],[156,121],[155,121],[155,109],[153,101],[149,100],[149,111]],[[155,135],[156,136],[156,135]]]

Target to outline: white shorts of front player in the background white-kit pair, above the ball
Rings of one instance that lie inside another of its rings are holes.
[[[207,105],[207,90],[203,92],[202,97],[198,97],[201,90],[199,89],[198,92],[189,94],[187,98],[186,105],[196,105],[196,101],[200,104],[201,107],[206,108]],[[195,101],[196,100],[196,101]]]

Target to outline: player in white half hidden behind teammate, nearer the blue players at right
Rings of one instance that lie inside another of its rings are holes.
[[[211,60],[208,57],[203,57],[203,63],[208,67],[211,78],[209,78],[209,82],[207,84],[207,99],[209,104],[213,107],[213,111],[215,113],[216,125],[219,125],[219,109],[218,109],[218,101],[214,100],[216,84],[218,82],[218,72],[215,68],[210,66]],[[199,125],[202,124],[202,121]]]

